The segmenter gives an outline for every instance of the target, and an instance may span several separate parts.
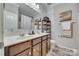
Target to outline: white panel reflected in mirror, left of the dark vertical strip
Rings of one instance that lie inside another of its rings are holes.
[[[17,31],[18,27],[18,15],[4,11],[4,32],[15,32]]]

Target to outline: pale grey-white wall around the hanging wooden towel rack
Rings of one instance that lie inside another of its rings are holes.
[[[59,13],[66,11],[66,10],[72,10],[72,21],[75,22],[73,25],[73,37],[72,38],[63,38],[60,37],[61,35],[61,27],[59,25]],[[66,46],[69,48],[75,48],[77,49],[78,44],[78,29],[77,29],[77,21],[76,21],[76,4],[73,3],[61,3],[53,7],[50,6],[48,8],[48,16],[50,17],[52,21],[52,39],[56,40],[57,44]]]

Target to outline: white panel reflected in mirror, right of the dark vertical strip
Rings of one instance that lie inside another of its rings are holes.
[[[21,30],[26,33],[30,33],[32,31],[32,17],[21,15]]]

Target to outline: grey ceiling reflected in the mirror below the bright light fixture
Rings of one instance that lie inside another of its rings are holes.
[[[25,14],[25,15],[27,15],[27,16],[31,16],[31,17],[33,17],[33,16],[35,16],[35,15],[37,15],[37,14],[39,14],[37,11],[35,11],[33,8],[31,8],[31,7],[29,7],[29,6],[27,6],[27,5],[25,5],[24,3],[19,3],[19,5],[20,5],[20,13],[22,13],[22,14]]]

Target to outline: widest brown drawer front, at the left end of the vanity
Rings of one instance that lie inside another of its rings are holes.
[[[9,47],[9,55],[16,55],[17,53],[29,48],[31,46],[31,41],[16,44],[15,46]]]

